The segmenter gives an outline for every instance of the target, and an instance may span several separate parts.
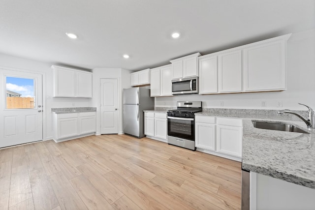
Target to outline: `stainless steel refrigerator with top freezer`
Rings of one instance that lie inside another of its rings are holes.
[[[143,110],[154,109],[154,97],[150,89],[124,89],[124,133],[138,138],[144,137]]]

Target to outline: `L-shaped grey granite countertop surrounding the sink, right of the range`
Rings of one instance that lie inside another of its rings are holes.
[[[242,168],[315,189],[315,129],[277,110],[203,109],[195,115],[242,118]],[[307,117],[307,111],[296,111]],[[255,128],[252,120],[287,122],[309,134]]]

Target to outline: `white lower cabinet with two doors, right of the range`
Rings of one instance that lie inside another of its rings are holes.
[[[241,119],[198,115],[195,117],[195,144],[197,149],[240,160],[242,157],[242,136]]]

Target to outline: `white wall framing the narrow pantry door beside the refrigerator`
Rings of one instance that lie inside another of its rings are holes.
[[[121,68],[94,68],[93,69],[93,101],[96,107],[96,134],[100,134],[100,79],[118,79],[118,133],[123,133],[123,89],[130,88],[130,71]]]

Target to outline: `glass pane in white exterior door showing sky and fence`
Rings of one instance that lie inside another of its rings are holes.
[[[34,79],[5,77],[6,109],[35,107]]]

